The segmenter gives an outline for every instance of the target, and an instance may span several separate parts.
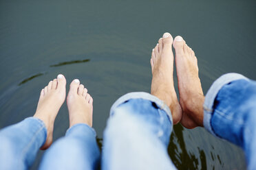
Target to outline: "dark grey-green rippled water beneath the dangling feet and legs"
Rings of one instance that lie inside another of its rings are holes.
[[[195,51],[204,93],[223,73],[256,80],[255,16],[256,1],[244,0],[1,0],[0,127],[32,116],[41,88],[63,73],[67,84],[79,78],[94,97],[94,128],[102,138],[118,97],[150,91],[151,49],[164,32],[181,35]],[[176,75],[174,81],[177,87]],[[67,127],[64,104],[54,140]],[[178,169],[246,167],[242,149],[201,127],[175,125],[169,154]]]

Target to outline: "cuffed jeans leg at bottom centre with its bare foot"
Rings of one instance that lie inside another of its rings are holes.
[[[167,146],[173,122],[180,121],[182,111],[173,86],[173,38],[165,33],[158,42],[151,58],[152,95],[129,93],[111,108],[104,132],[103,170],[175,169]]]

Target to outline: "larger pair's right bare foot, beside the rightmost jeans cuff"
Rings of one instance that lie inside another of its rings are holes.
[[[173,47],[175,48],[180,106],[183,111],[180,123],[190,129],[203,126],[204,93],[198,76],[198,59],[181,36],[175,37]]]

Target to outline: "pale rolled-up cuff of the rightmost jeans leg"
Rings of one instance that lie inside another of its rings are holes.
[[[248,78],[237,73],[226,73],[215,80],[215,82],[213,82],[210,89],[206,93],[204,99],[204,128],[213,134],[213,136],[217,136],[211,127],[211,117],[214,111],[213,105],[215,98],[224,85],[235,80],[248,80]]]

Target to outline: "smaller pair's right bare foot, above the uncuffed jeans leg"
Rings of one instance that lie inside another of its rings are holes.
[[[93,99],[87,93],[83,84],[80,84],[78,79],[73,80],[70,84],[70,92],[67,95],[70,127],[77,123],[85,123],[92,127],[92,102]]]

